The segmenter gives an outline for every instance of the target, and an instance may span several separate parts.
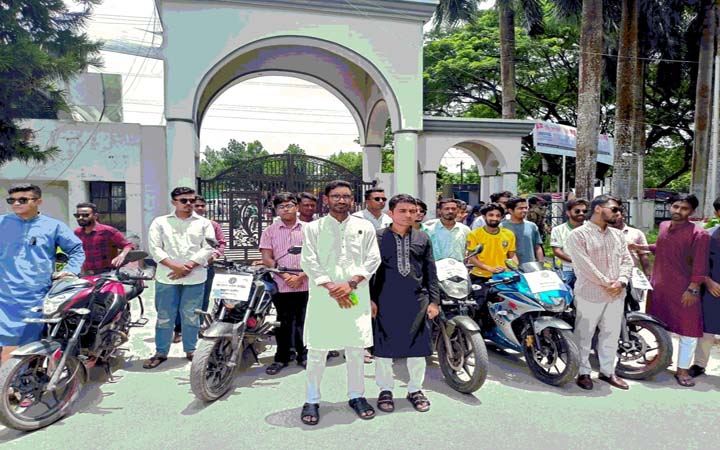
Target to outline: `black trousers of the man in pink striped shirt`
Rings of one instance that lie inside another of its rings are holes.
[[[293,353],[297,354],[298,361],[304,361],[307,359],[303,329],[308,292],[278,292],[273,296],[272,301],[277,312],[277,320],[280,322],[280,328],[275,332],[277,342],[275,361],[287,364]],[[295,352],[290,351],[292,347],[295,347]]]

